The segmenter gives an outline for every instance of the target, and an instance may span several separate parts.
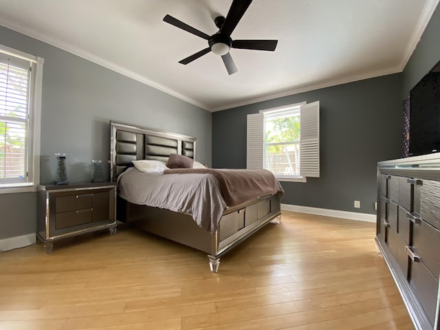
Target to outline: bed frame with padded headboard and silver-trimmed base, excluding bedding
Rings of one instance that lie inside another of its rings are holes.
[[[136,160],[168,162],[172,154],[195,159],[196,139],[193,137],[118,122],[111,122],[110,126],[111,181],[118,181],[118,177],[123,175],[128,176],[127,168],[132,170],[129,166],[132,166],[133,161]],[[162,207],[133,203],[122,198],[118,193],[117,219],[146,232],[206,252],[211,272],[218,272],[220,257],[223,254],[245,241],[270,221],[276,223],[281,221],[282,196],[281,188],[277,192],[240,201],[238,205],[225,206],[216,227],[207,230],[207,228],[202,229],[203,226],[188,212],[176,212]]]

